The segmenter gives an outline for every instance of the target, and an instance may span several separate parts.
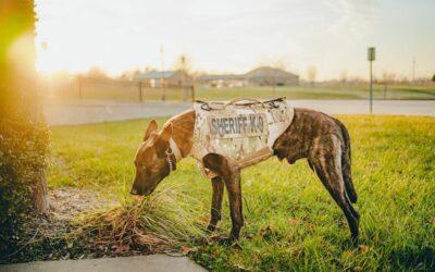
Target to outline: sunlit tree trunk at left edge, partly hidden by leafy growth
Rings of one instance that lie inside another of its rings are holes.
[[[0,113],[17,114],[32,124],[45,125],[36,91],[34,7],[34,0],[0,2]],[[33,208],[46,213],[50,207],[46,170],[39,170],[34,178]]]

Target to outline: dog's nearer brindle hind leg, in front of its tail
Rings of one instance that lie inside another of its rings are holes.
[[[316,139],[310,157],[319,178],[345,213],[352,238],[357,238],[359,214],[351,206],[345,191],[340,140],[334,135]]]

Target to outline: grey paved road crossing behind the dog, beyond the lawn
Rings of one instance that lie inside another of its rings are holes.
[[[366,100],[291,100],[294,107],[310,108],[328,114],[368,114]],[[103,100],[44,103],[50,125],[100,123],[140,118],[171,116],[191,108],[188,102],[120,102]],[[435,100],[376,100],[374,114],[435,116]]]

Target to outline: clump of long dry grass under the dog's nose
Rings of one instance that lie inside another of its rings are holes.
[[[90,243],[109,247],[115,254],[161,252],[204,238],[206,227],[198,221],[199,211],[195,210],[200,206],[195,205],[196,200],[173,187],[162,187],[142,200],[124,195],[119,207],[77,218],[77,227],[70,238],[88,236]]]

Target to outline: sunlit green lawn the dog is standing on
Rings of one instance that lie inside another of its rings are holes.
[[[271,159],[243,172],[241,249],[191,237],[189,256],[212,270],[434,269],[435,119],[338,118],[351,135],[361,214],[358,246],[350,243],[343,213],[307,162],[288,165]],[[54,127],[49,186],[99,190],[128,207],[134,202],[128,195],[133,157],[147,124],[138,120]],[[209,237],[201,230],[209,218],[211,185],[192,159],[184,160],[158,190],[165,194],[169,188],[177,193],[173,227],[197,227],[200,231],[181,231]],[[153,207],[165,208],[163,202]],[[219,233],[229,228],[224,205]]]

